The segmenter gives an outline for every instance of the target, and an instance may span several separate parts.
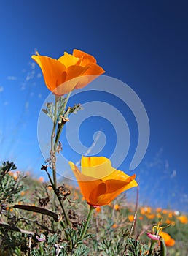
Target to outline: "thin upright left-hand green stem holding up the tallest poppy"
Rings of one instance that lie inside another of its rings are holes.
[[[58,107],[58,97],[55,96],[54,121],[53,121],[53,129],[52,129],[52,134],[51,134],[51,152],[54,155],[54,157],[55,157],[55,148],[54,148],[53,142],[54,142],[54,136],[55,136],[55,127],[56,127],[56,123],[57,123],[57,107]],[[55,161],[53,160],[53,157],[52,157],[52,172],[53,172],[53,184],[56,189],[57,177],[56,177]]]

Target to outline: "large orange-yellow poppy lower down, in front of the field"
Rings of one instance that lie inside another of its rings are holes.
[[[82,157],[81,172],[74,163],[69,164],[90,206],[107,205],[123,191],[138,186],[136,175],[114,169],[106,157]]]

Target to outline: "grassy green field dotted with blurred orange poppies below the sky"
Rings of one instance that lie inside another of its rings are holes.
[[[6,206],[1,205],[0,255],[148,255],[152,240],[147,233],[158,224],[164,227],[160,235],[167,255],[188,254],[188,216],[176,209],[138,205],[135,215],[135,204],[122,193],[93,210],[80,239],[89,205],[79,187],[66,180],[58,184],[70,221],[64,229],[61,221],[66,219],[58,219],[62,210],[50,183],[12,169],[15,166],[9,162],[1,166],[0,197]],[[160,241],[154,243],[152,255],[162,255]]]

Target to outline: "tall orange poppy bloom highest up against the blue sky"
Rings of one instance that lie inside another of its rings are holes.
[[[39,53],[31,58],[42,69],[47,88],[58,96],[85,87],[104,73],[103,68],[96,64],[96,59],[81,50],[74,49],[72,54],[65,52],[59,59]]]

